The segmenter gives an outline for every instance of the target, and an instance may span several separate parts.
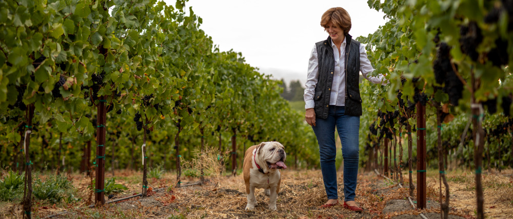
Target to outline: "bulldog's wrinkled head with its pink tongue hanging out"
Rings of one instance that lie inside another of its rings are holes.
[[[262,165],[266,165],[269,169],[286,169],[285,147],[279,142],[262,142],[257,147],[258,157]]]

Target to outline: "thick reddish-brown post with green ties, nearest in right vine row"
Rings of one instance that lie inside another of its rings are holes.
[[[426,106],[417,103],[417,208],[426,208]]]

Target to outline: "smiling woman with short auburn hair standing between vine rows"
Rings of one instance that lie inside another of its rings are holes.
[[[358,149],[362,99],[359,72],[372,83],[386,84],[384,77],[367,76],[374,69],[365,47],[351,39],[351,18],[343,8],[330,8],[321,17],[321,26],[329,34],[315,44],[308,62],[305,117],[319,142],[321,172],[328,201],[321,208],[339,205],[335,167],[335,127],[342,142],[344,158],[344,208],[361,212],[354,202],[358,176]]]

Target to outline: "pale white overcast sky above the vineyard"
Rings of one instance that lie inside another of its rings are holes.
[[[241,52],[246,63],[287,83],[296,79],[305,83],[313,45],[328,37],[320,25],[327,9],[347,10],[354,38],[385,24],[384,14],[370,9],[366,0],[189,0],[186,6],[203,18],[200,29],[221,51]]]

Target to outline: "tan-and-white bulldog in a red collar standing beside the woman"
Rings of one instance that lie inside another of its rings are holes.
[[[246,210],[253,210],[257,205],[255,188],[265,189],[270,195],[269,209],[276,210],[276,198],[280,191],[281,175],[279,169],[286,169],[284,147],[279,142],[262,142],[246,150],[243,174],[246,183],[248,204]]]

